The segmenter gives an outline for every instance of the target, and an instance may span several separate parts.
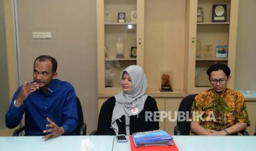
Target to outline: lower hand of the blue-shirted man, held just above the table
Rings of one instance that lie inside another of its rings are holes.
[[[50,129],[44,130],[43,133],[47,133],[47,132],[50,132],[50,133],[46,136],[43,136],[42,139],[47,141],[50,138],[55,138],[63,135],[63,133],[65,132],[63,127],[59,127],[48,117],[46,119],[50,123],[50,124],[47,124],[46,127],[50,127]]]

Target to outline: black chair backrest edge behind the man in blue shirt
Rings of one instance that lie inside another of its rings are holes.
[[[77,126],[77,129],[75,129],[75,134],[82,135],[80,127],[81,127],[81,125],[84,124],[83,109],[82,109],[81,102],[80,102],[78,96],[75,96],[75,100],[77,100],[77,111],[78,111],[78,126]],[[86,129],[83,131],[83,135],[86,135]]]

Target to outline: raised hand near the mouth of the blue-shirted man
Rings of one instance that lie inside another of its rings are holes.
[[[24,82],[20,93],[16,99],[16,104],[21,106],[22,102],[26,100],[26,98],[31,94],[31,92],[34,92],[35,90],[39,89],[39,85],[36,83],[26,83]]]

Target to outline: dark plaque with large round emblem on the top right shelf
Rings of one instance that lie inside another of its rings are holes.
[[[227,20],[227,5],[214,4],[213,5],[213,22],[226,22]]]

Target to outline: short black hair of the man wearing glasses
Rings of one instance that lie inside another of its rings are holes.
[[[206,71],[208,77],[211,77],[211,72],[222,70],[227,77],[230,77],[230,68],[226,65],[226,63],[216,63],[211,65]]]

